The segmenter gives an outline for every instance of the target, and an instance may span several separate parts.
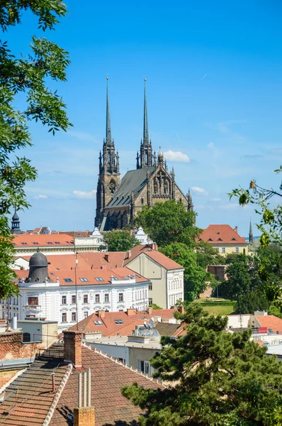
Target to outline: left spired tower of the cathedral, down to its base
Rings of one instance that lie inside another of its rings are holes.
[[[106,138],[103,140],[103,152],[99,155],[99,175],[96,193],[95,226],[101,226],[103,209],[111,201],[120,183],[120,164],[118,151],[111,136],[110,103],[108,97],[108,77],[106,90]]]

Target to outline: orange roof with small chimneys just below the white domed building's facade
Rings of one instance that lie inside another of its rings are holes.
[[[153,310],[154,311],[154,310]],[[169,319],[174,317],[174,309],[171,310],[157,310],[158,316],[162,319]],[[86,317],[78,323],[79,330],[82,332],[101,332],[103,336],[128,336],[135,330],[136,325],[144,324],[145,320],[150,320],[154,317],[154,312],[150,315],[148,312],[136,312],[130,309],[128,312],[103,312],[103,317],[99,317],[94,313]],[[116,323],[115,320],[121,320],[121,323]],[[102,322],[102,324],[95,324],[95,322]],[[77,324],[69,328],[76,330]]]

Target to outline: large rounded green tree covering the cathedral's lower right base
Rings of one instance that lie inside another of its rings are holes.
[[[187,212],[184,204],[176,200],[159,202],[152,209],[146,205],[135,218],[135,226],[142,226],[160,247],[176,242],[195,246],[195,239],[201,233],[195,223],[196,214]]]

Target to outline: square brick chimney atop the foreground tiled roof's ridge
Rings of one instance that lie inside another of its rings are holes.
[[[81,332],[64,332],[64,361],[72,362],[74,368],[82,368],[81,341]]]

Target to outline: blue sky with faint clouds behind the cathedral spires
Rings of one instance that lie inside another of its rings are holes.
[[[237,225],[247,235],[252,207],[227,192],[278,185],[282,160],[282,5],[249,1],[66,1],[69,15],[47,37],[69,51],[66,83],[55,85],[74,127],[52,137],[30,124],[38,168],[21,228],[93,229],[98,151],[109,77],[112,135],[122,175],[135,168],[142,137],[143,79],[153,147],[191,188],[198,226]],[[6,39],[27,55],[36,21],[23,15]],[[254,228],[255,229],[255,228]],[[254,231],[256,234],[256,231]]]

